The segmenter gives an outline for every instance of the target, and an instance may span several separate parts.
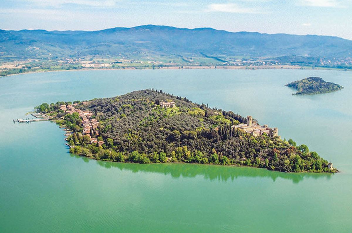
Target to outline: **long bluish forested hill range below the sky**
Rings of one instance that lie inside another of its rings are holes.
[[[0,30],[0,59],[200,56],[220,60],[284,56],[352,57],[352,41],[332,36],[227,32],[145,25],[100,31]]]

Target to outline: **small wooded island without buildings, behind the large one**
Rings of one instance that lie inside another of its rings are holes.
[[[304,78],[304,79],[286,84],[286,86],[297,90],[297,92],[293,93],[292,95],[323,94],[323,93],[339,91],[344,88],[339,84],[326,82],[320,77]]]

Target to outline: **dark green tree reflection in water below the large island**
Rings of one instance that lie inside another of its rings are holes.
[[[84,162],[89,162],[91,159],[78,155],[71,155],[76,158],[82,158]],[[92,160],[93,162],[94,160]],[[299,183],[305,178],[313,179],[331,179],[334,174],[316,174],[316,173],[282,173],[277,171],[269,171],[266,169],[247,168],[247,167],[231,167],[221,165],[205,165],[205,164],[184,164],[184,163],[151,163],[151,164],[136,164],[136,163],[115,163],[106,161],[95,161],[101,167],[111,169],[118,168],[120,170],[130,170],[133,173],[151,172],[161,173],[164,175],[170,174],[173,178],[178,177],[195,177],[202,175],[204,179],[219,180],[219,181],[234,181],[238,177],[263,177],[276,179],[288,179],[293,183]]]

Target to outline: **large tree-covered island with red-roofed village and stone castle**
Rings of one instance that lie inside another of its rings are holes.
[[[335,173],[307,145],[278,136],[252,116],[209,108],[162,90],[90,101],[43,103],[37,115],[67,133],[70,153],[133,163],[203,163],[282,172]]]

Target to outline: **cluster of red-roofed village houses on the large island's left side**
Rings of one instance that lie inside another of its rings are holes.
[[[85,102],[82,102],[83,104],[86,104]],[[103,141],[98,141],[96,138],[99,136],[99,130],[98,130],[98,125],[99,122],[92,118],[93,112],[91,111],[82,111],[81,109],[75,108],[78,103],[75,104],[69,104],[69,105],[61,105],[60,109],[64,111],[67,114],[73,114],[74,112],[77,112],[80,118],[82,119],[82,125],[83,125],[83,136],[88,136],[90,138],[90,143],[98,143],[99,146],[104,144]]]

